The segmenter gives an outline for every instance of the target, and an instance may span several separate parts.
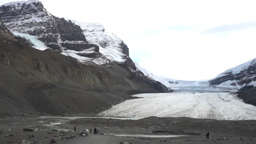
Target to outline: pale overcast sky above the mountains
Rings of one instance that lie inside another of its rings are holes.
[[[255,1],[41,1],[55,16],[101,23],[160,76],[212,79],[256,57]]]

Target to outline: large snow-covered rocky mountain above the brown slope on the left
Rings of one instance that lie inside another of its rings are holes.
[[[0,19],[15,35],[26,38],[38,50],[53,49],[86,65],[112,67],[131,73],[129,79],[148,83],[149,87],[170,92],[160,82],[148,79],[136,68],[123,40],[107,33],[97,23],[65,20],[51,15],[38,0],[11,2],[0,6]]]

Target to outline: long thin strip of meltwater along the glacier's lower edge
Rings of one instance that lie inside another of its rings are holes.
[[[40,116],[38,118],[62,118],[62,119],[77,119],[77,118],[106,118],[106,119],[121,119],[121,120],[138,120],[142,119],[142,117],[61,117],[61,116]]]

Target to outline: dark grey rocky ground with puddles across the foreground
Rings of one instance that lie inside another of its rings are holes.
[[[62,124],[54,125],[60,122]],[[74,126],[77,128],[73,131]],[[97,127],[97,135],[84,136]],[[28,131],[24,131],[28,130]],[[29,131],[33,130],[33,131]],[[74,120],[13,116],[0,118],[1,143],[255,143],[256,121],[217,121],[212,119],[158,118],[120,120],[79,118]],[[205,134],[210,132],[211,138]],[[106,135],[108,134],[108,135]],[[186,135],[170,138],[126,137],[129,135]]]

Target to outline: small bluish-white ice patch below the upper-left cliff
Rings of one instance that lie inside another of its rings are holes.
[[[50,49],[49,47],[47,47],[43,41],[40,41],[38,40],[36,37],[34,37],[33,35],[30,35],[30,34],[25,34],[25,33],[19,33],[19,32],[13,32],[13,34],[15,36],[18,36],[18,37],[22,37],[22,38],[25,38],[27,39],[28,41],[30,41],[30,43],[33,45],[33,47],[35,49],[38,49],[38,50],[46,50],[46,49]]]

